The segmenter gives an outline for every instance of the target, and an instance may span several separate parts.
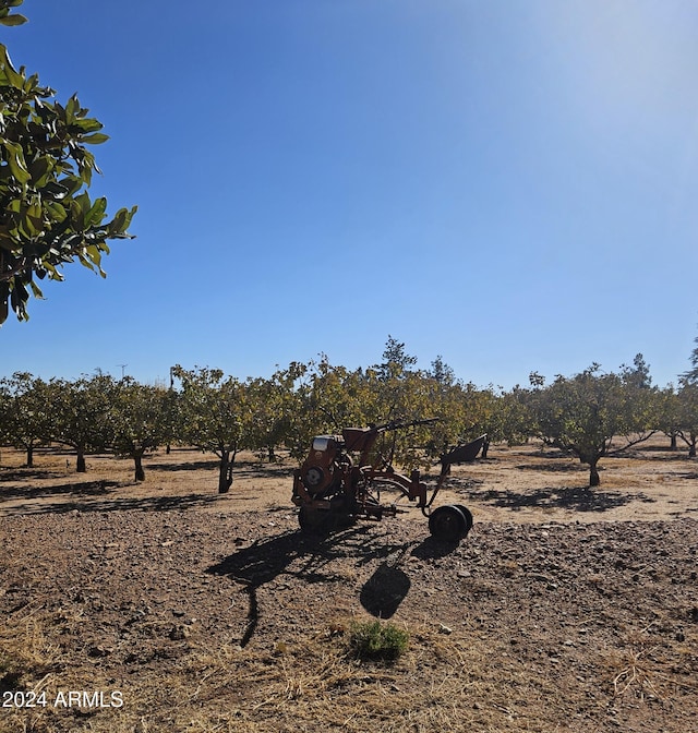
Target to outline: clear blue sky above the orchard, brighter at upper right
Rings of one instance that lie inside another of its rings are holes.
[[[0,329],[1,374],[241,377],[388,335],[478,385],[698,334],[694,0],[25,0],[15,65],[110,141],[137,204]]]

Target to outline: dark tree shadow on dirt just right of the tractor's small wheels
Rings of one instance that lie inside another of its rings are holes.
[[[484,501],[494,506],[519,510],[526,507],[562,508],[575,512],[607,512],[631,502],[652,503],[646,494],[628,494],[619,491],[603,491],[589,486],[537,489],[517,492],[510,489],[471,493],[470,498]]]

